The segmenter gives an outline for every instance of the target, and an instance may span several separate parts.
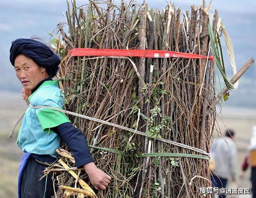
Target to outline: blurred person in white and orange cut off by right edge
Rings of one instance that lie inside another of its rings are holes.
[[[240,177],[244,177],[245,171],[251,166],[251,191],[252,197],[256,198],[256,125],[252,128],[252,137],[250,140],[249,152],[242,165],[243,172]]]

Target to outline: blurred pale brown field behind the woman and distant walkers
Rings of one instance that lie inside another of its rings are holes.
[[[17,173],[19,160],[22,151],[16,145],[16,132],[12,139],[8,138],[8,133],[18,117],[25,111],[26,104],[19,94],[1,93],[0,98],[0,197],[16,197],[17,191]],[[232,128],[236,132],[236,143],[239,150],[238,171],[247,151],[251,129],[256,124],[256,109],[231,108],[224,106],[222,114],[218,116],[218,127],[221,131],[226,128]],[[215,132],[215,137],[218,134]],[[249,171],[246,172],[245,178],[239,179],[239,187],[250,187]],[[229,183],[230,187],[234,184]],[[229,196],[229,197],[250,197],[250,196]]]

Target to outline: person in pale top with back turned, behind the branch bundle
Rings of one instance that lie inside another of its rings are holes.
[[[229,179],[237,183],[237,147],[234,143],[234,131],[226,130],[226,138],[219,138],[213,142],[210,150],[214,162],[211,175],[213,187],[225,188]],[[220,194],[220,197],[226,197]]]

